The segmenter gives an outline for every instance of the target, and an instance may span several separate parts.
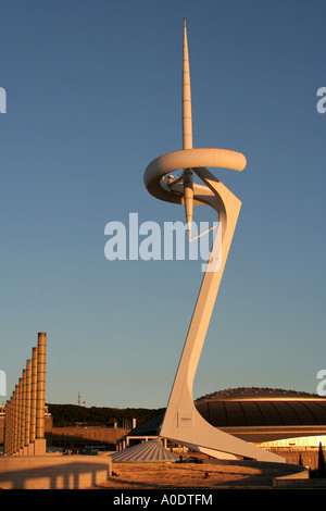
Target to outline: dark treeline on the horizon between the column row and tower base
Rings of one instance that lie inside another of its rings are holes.
[[[117,423],[118,427],[126,426],[127,422],[136,419],[137,424],[163,413],[164,409],[146,408],[86,408],[78,404],[47,404],[52,415],[54,427],[67,427],[75,425],[112,427]]]

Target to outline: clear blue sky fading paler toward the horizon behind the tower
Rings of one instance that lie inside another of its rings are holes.
[[[165,407],[199,261],[114,261],[108,222],[184,221],[148,163],[181,149],[183,17],[193,146],[242,201],[195,398],[316,391],[325,369],[326,86],[322,1],[1,1],[1,358],[8,395],[47,332],[48,402]],[[211,219],[206,208],[195,220]],[[0,400],[5,401],[5,397]]]

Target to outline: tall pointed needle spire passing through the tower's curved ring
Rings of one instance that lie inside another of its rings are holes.
[[[183,144],[184,149],[192,149],[192,115],[190,71],[187,40],[186,18],[184,17],[184,65],[183,65]],[[189,240],[191,238],[192,208],[193,208],[193,174],[191,169],[184,170],[184,201]]]

